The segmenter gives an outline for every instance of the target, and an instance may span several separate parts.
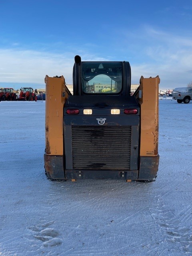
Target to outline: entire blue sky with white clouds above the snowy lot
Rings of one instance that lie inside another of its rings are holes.
[[[44,88],[45,75],[72,84],[74,56],[129,61],[132,84],[192,81],[192,0],[0,0],[0,86]]]

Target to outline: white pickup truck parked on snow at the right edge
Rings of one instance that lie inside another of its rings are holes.
[[[192,88],[189,87],[180,87],[175,88],[172,91],[173,99],[177,100],[178,103],[189,103],[192,99]]]

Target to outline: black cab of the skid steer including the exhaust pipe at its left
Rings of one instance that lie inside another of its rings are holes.
[[[75,56],[74,95],[130,96],[129,62],[82,62]]]

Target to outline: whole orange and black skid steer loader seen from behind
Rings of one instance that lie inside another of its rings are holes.
[[[51,180],[153,181],[158,171],[158,85],[140,78],[130,95],[129,62],[75,56],[73,95],[63,76],[45,77],[46,149]]]

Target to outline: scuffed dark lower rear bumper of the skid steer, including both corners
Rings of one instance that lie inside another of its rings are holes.
[[[152,180],[156,177],[158,156],[140,157],[139,170],[65,170],[64,156],[44,154],[45,170],[52,180],[68,179],[113,179],[113,180]]]

